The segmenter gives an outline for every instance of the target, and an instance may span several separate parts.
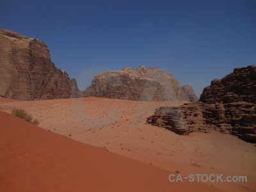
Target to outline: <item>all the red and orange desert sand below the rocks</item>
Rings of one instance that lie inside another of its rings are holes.
[[[213,130],[180,136],[145,124],[159,106],[180,104],[0,98],[1,111],[24,108],[49,130],[1,113],[2,191],[256,191],[254,144]],[[177,171],[246,175],[248,181],[169,182]]]

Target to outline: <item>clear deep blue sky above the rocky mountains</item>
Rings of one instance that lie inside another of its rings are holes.
[[[0,28],[44,41],[71,78],[161,67],[198,97],[213,79],[256,65],[255,0],[0,0]]]

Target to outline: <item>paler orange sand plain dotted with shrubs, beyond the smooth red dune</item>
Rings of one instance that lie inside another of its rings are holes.
[[[169,173],[179,171],[184,177],[196,173],[246,175],[247,182],[203,184],[232,192],[256,191],[256,147],[252,143],[213,130],[180,136],[145,124],[147,116],[159,106],[181,103],[93,97],[24,101],[0,97],[0,110],[10,113],[13,107],[24,108],[50,133],[107,148],[109,152],[153,164]],[[200,167],[193,166],[195,163]]]

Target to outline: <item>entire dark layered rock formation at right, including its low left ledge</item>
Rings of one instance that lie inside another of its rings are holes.
[[[256,67],[235,68],[204,88],[199,102],[156,109],[147,122],[178,134],[212,128],[256,143]]]

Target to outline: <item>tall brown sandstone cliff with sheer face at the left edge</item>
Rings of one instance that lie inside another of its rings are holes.
[[[36,100],[77,97],[76,79],[55,67],[44,42],[0,29],[0,95]]]

